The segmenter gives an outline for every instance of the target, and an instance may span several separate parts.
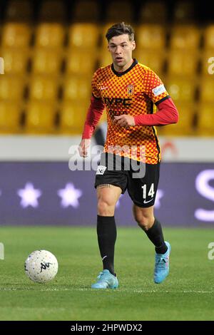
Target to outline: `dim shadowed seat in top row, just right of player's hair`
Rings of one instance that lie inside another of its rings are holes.
[[[167,7],[163,1],[142,1],[138,12],[138,21],[146,24],[165,24]]]

